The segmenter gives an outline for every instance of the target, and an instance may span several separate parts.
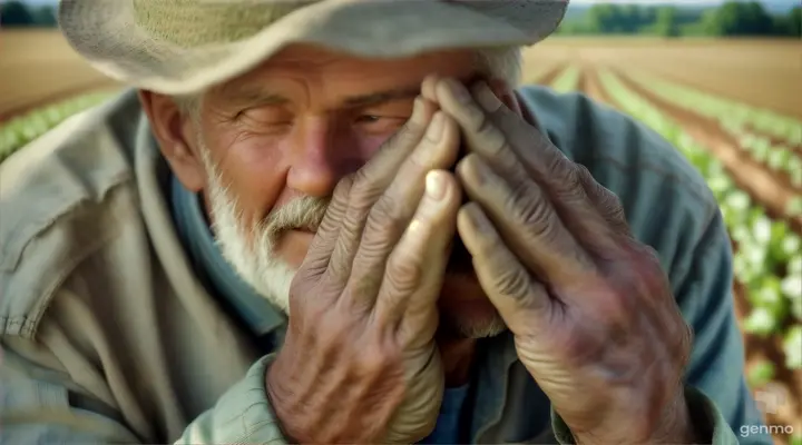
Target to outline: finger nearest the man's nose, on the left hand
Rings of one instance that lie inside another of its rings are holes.
[[[433,105],[420,97],[417,98],[410,120],[382,144],[370,161],[353,176],[348,207],[342,217],[338,239],[325,271],[331,283],[336,283],[344,288],[348,277],[351,275],[351,265],[362,237],[368,212],[393,180],[403,160],[423,138],[433,112]]]

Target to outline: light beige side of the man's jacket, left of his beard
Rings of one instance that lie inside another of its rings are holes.
[[[268,357],[194,276],[145,138],[130,92],[0,167],[3,443],[281,441]]]

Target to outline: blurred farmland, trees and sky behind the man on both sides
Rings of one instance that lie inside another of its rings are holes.
[[[120,89],[65,42],[55,6],[0,1],[0,161]],[[707,179],[735,253],[746,375],[777,444],[802,444],[801,28],[798,0],[573,0],[524,77],[635,117]]]

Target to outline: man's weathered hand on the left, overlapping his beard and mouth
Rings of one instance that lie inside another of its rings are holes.
[[[413,443],[434,426],[437,297],[461,191],[444,171],[459,129],[433,112],[418,99],[408,125],[338,185],[293,280],[267,393],[294,441]]]

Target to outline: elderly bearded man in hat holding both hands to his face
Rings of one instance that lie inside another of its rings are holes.
[[[136,91],[2,166],[3,439],[761,425],[703,180],[622,115],[517,83],[565,7],[62,1]]]

